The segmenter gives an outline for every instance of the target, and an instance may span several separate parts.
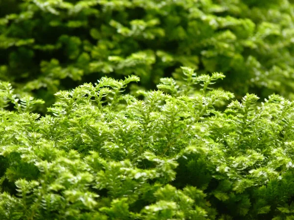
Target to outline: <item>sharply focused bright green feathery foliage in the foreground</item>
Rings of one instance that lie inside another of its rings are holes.
[[[1,219],[293,219],[294,103],[230,101],[209,87],[224,75],[182,70],[143,100],[133,75],[59,91],[42,117],[2,82]]]

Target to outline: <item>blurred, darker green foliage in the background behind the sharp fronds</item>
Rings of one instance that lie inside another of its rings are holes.
[[[0,79],[50,105],[104,74],[154,88],[190,66],[223,72],[238,99],[292,99],[293,10],[292,0],[0,0]]]

